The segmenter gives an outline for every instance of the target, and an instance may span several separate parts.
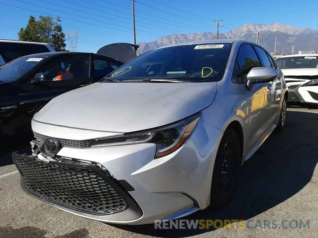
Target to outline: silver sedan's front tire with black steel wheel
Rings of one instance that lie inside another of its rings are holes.
[[[215,158],[210,209],[225,207],[235,192],[239,169],[242,161],[239,137],[232,128],[226,129]],[[225,175],[228,173],[228,175]]]

